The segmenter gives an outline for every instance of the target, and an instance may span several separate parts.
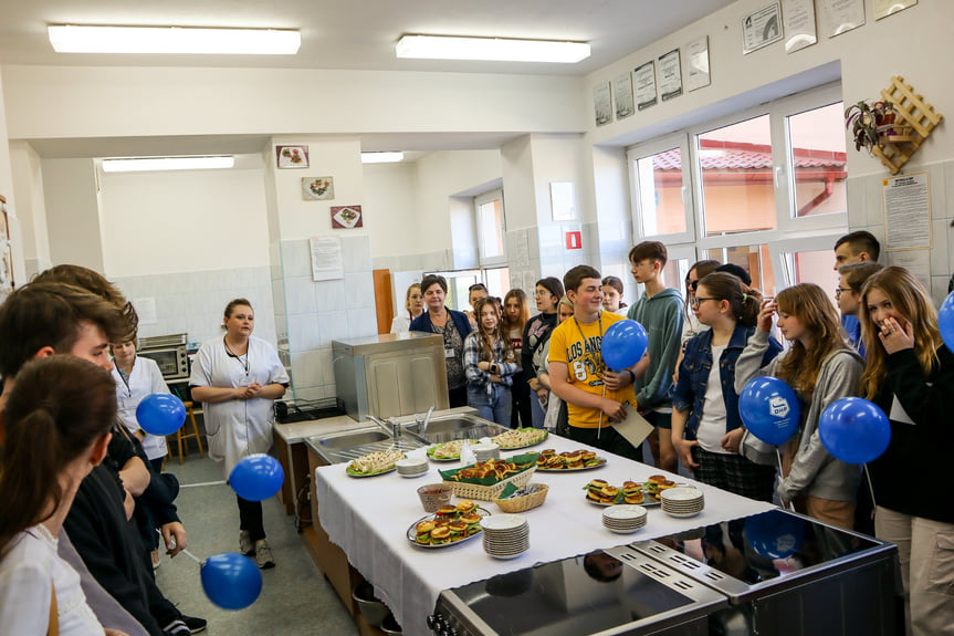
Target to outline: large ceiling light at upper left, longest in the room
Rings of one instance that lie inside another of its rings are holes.
[[[179,27],[49,27],[57,53],[198,53],[205,55],[294,55],[298,31]]]

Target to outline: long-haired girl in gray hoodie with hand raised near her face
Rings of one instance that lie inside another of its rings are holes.
[[[774,314],[791,346],[763,366]],[[735,392],[742,393],[759,375],[777,377],[795,389],[801,421],[784,446],[778,497],[784,503],[794,502],[801,513],[851,530],[861,470],[831,457],[818,436],[821,413],[837,399],[858,395],[864,368],[861,356],[841,338],[840,326],[838,313],[818,285],[782,290],[774,301],[763,303],[758,329],[738,356]]]

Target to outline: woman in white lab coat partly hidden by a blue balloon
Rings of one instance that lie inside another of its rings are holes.
[[[156,472],[163,471],[163,459],[168,455],[166,438],[143,430],[136,419],[136,408],[146,396],[169,393],[163,372],[156,361],[136,355],[135,340],[109,345],[113,354],[113,379],[116,382],[116,403],[123,425],[143,444],[143,450]]]

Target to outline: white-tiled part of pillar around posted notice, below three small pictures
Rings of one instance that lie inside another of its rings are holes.
[[[332,341],[373,336],[378,331],[370,241],[365,234],[338,238],[344,265],[340,280],[312,280],[306,239],[283,240],[273,248],[273,260],[277,257],[272,268],[275,315],[287,325],[280,348],[291,361],[298,400],[336,395]]]

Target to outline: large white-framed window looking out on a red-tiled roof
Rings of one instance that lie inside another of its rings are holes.
[[[842,108],[829,85],[629,148],[637,240],[738,264],[766,295],[830,289],[848,229]]]

